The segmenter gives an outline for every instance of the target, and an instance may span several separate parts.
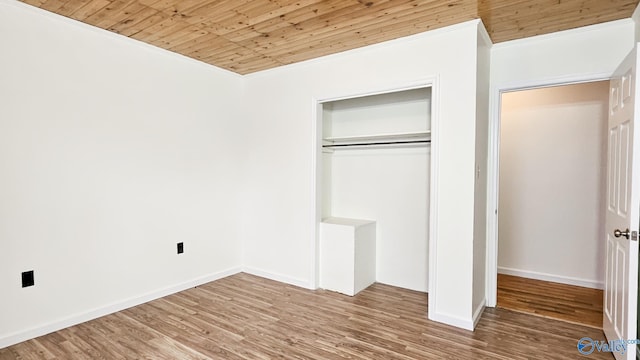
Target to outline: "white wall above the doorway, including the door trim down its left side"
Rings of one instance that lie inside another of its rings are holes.
[[[619,20],[496,44],[491,50],[487,304],[496,304],[500,93],[611,76],[633,49],[634,22]]]

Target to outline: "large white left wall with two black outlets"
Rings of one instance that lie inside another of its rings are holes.
[[[0,47],[0,347],[240,269],[242,78],[17,1]]]

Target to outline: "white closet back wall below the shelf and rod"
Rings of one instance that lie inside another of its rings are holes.
[[[376,221],[376,281],[426,292],[429,149],[350,149],[332,157],[332,216]]]

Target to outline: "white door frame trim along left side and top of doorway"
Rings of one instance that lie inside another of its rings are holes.
[[[485,281],[488,307],[496,307],[498,303],[498,197],[500,193],[500,123],[502,116],[502,94],[554,86],[607,81],[610,80],[611,77],[611,73],[594,73],[550,78],[540,81],[491,85],[489,99],[489,149],[487,156],[487,277]]]

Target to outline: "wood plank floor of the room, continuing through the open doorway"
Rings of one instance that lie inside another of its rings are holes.
[[[426,304],[381,284],[349,297],[238,274],[0,349],[0,359],[573,359],[578,339],[604,338],[503,309],[471,332],[427,320]]]

